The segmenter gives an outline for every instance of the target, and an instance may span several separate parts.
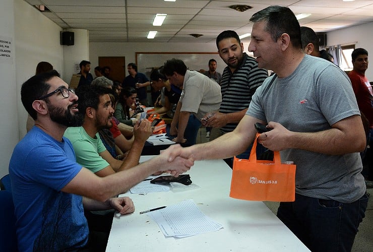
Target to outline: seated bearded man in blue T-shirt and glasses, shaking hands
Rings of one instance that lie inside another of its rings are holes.
[[[84,210],[132,213],[130,198],[112,197],[156,172],[178,175],[193,165],[179,159],[170,166],[162,152],[149,162],[98,177],[76,162],[71,142],[63,137],[68,127],[81,125],[82,120],[78,96],[59,74],[30,78],[22,85],[21,100],[35,126],[17,144],[9,164],[19,251],[105,249],[105,240],[90,237]]]

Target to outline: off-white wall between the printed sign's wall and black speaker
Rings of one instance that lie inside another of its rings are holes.
[[[20,96],[22,83],[35,75],[36,65],[40,61],[48,61],[55,70],[63,73],[64,46],[60,45],[59,32],[62,29],[58,25],[23,0],[13,2],[17,53],[15,86],[17,87],[19,139],[22,139],[26,134],[27,119],[27,112]],[[0,10],[3,11],[9,12],[5,8]],[[16,114],[14,115],[17,117]]]

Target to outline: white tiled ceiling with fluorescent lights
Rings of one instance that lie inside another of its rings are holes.
[[[289,7],[295,15],[312,14],[299,21],[316,32],[328,32],[373,21],[373,0],[25,0],[44,5],[43,12],[64,29],[89,30],[90,42],[212,42],[223,30],[239,35],[251,32],[250,17],[270,6]],[[248,3],[250,2],[250,3]],[[249,5],[237,12],[231,5]],[[157,13],[167,14],[161,27],[153,26]],[[158,31],[147,39],[148,31]],[[199,38],[191,33],[202,34]]]

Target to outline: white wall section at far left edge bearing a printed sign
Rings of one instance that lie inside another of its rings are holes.
[[[11,41],[12,59],[0,59],[0,177],[8,174],[9,159],[18,142],[17,88],[14,36],[14,3],[3,0],[0,8],[0,38]],[[4,49],[4,48],[3,48]]]

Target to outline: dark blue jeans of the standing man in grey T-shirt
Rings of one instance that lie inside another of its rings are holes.
[[[368,197],[346,204],[295,194],[281,202],[277,217],[313,252],[351,251]]]

